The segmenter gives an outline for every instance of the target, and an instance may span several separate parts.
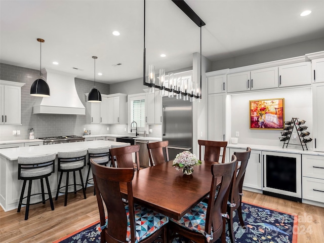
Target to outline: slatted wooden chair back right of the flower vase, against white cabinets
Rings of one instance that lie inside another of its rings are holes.
[[[198,140],[199,144],[199,160],[201,160],[201,147],[205,147],[204,160],[205,161],[214,161],[219,162],[219,156],[222,152],[222,163],[225,163],[225,152],[227,141],[210,141],[210,140]]]

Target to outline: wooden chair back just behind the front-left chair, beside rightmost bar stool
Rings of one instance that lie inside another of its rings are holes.
[[[139,150],[140,145],[111,148],[110,156],[112,165],[116,165],[117,168],[134,168],[139,170]],[[133,153],[135,153],[135,164],[133,161]]]

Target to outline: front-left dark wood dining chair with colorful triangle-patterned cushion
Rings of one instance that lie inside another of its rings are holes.
[[[168,217],[134,204],[132,180],[134,168],[109,168],[91,160],[97,191],[101,242],[153,242],[157,237],[167,241]],[[124,204],[119,183],[127,183],[128,205]],[[104,205],[106,207],[104,207]],[[107,212],[107,219],[105,215]]]

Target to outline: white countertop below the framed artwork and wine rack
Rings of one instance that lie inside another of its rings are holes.
[[[320,155],[324,156],[324,152],[317,152],[313,150],[303,150],[300,148],[282,148],[279,146],[268,146],[268,145],[257,145],[257,144],[227,144],[228,148],[242,148],[246,149],[247,147],[250,147],[253,150],[263,150],[263,151],[273,151],[273,152],[285,152],[285,153],[297,153],[297,154],[311,154],[311,155]]]

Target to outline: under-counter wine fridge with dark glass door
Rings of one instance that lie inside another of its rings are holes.
[[[262,151],[263,194],[301,201],[301,154]]]

